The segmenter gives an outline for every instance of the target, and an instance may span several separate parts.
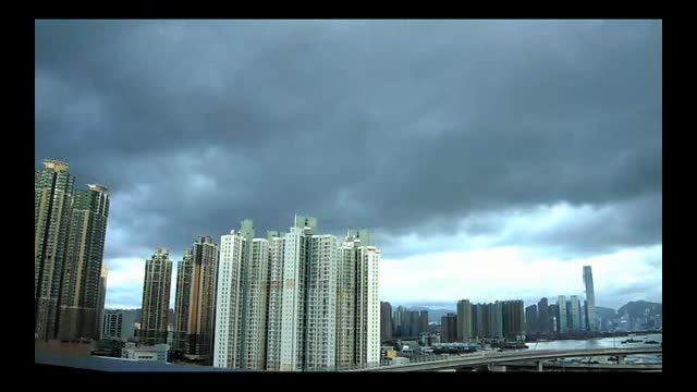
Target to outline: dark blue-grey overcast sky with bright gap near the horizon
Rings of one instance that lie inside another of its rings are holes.
[[[35,164],[111,192],[107,307],[140,306],[156,247],[295,213],[371,230],[392,304],[583,296],[584,265],[599,306],[662,299],[660,21],[35,33]]]

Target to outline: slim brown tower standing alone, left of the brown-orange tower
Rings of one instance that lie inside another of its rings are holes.
[[[143,345],[167,343],[171,281],[172,261],[169,250],[158,248],[152,257],[145,261],[139,336]]]

